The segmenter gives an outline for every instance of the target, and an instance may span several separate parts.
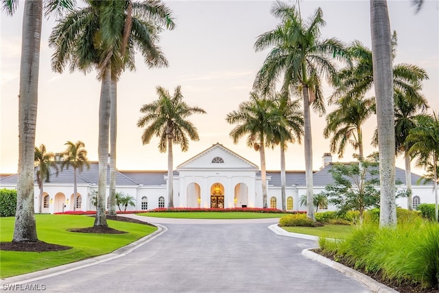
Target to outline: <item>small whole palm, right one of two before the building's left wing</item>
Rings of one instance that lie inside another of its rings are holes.
[[[67,167],[67,169],[69,169],[70,166],[73,167],[73,211],[76,211],[76,198],[78,194],[76,178],[78,171],[82,172],[84,167],[87,169],[90,168],[90,163],[88,163],[87,151],[82,141],[76,141],[76,143],[67,141],[64,145],[67,145],[67,148],[62,152],[61,169],[64,169],[64,167]]]

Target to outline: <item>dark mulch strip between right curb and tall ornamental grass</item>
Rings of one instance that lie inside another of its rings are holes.
[[[326,257],[327,259],[331,259],[335,261],[334,259],[335,255],[331,255],[330,253],[323,253],[322,250],[320,249],[313,249],[312,251],[314,253],[318,253],[319,255]],[[337,262],[342,263],[342,265],[347,266],[348,268],[353,268],[353,266],[351,266],[350,263],[344,261],[344,259],[337,259]],[[420,284],[399,283],[398,281],[387,279],[383,277],[383,274],[381,272],[372,273],[372,272],[366,272],[365,270],[361,270],[359,268],[353,268],[353,269],[357,270],[358,272],[361,272],[362,274],[366,274],[366,276],[400,293],[439,293],[439,290],[435,288],[422,288]]]

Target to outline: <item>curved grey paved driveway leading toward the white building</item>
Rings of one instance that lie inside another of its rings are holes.
[[[315,242],[270,231],[278,219],[144,219],[164,233],[122,257],[30,284],[45,292],[370,292],[303,257]]]

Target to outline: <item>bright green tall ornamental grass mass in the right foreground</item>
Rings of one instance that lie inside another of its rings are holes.
[[[379,271],[383,277],[399,283],[420,283],[426,288],[438,288],[438,224],[419,217],[410,217],[409,222],[396,228],[364,224],[344,241],[320,240],[319,244],[335,255],[335,259],[343,259],[355,268],[366,272]]]

